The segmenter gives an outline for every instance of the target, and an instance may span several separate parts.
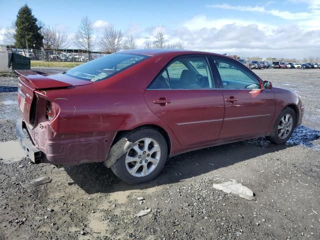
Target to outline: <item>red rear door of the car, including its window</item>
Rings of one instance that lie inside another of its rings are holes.
[[[216,86],[206,56],[183,56],[159,72],[144,97],[181,145],[199,145],[219,138],[224,102]]]

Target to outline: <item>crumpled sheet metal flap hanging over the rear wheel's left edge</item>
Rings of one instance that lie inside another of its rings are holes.
[[[108,158],[104,161],[104,165],[106,167],[111,167],[124,153],[136,144],[137,143],[131,142],[127,138],[122,137],[110,148]]]

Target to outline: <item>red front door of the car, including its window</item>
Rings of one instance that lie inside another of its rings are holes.
[[[272,90],[262,90],[260,80],[242,64],[225,57],[212,59],[225,105],[220,139],[265,133],[275,109]]]

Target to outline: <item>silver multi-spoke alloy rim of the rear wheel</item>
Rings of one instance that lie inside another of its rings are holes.
[[[133,176],[146,176],[151,173],[160,160],[160,146],[152,138],[137,140],[125,156],[127,171]]]

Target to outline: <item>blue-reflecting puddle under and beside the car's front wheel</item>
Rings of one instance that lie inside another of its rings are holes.
[[[298,126],[294,129],[292,136],[286,142],[287,145],[304,145],[312,148],[313,150],[320,151],[320,131],[309,128],[307,126]],[[251,143],[258,146],[268,146],[271,144],[264,137],[258,137],[254,139],[245,140],[247,143]]]

